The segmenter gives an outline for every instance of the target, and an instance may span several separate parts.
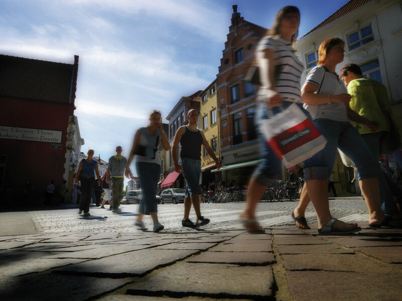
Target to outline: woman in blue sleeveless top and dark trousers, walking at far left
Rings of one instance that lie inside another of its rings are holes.
[[[100,181],[97,181],[97,183],[95,184],[94,174],[96,173],[96,179],[99,179],[99,170],[97,167],[97,161],[93,159],[94,153],[95,152],[93,149],[88,149],[88,157],[86,159],[82,159],[79,163],[77,175],[75,178],[75,184],[77,184],[78,181],[81,182],[82,191],[78,214],[81,214],[82,211],[84,211],[85,216],[89,215],[89,202],[91,200],[93,186],[100,186]]]

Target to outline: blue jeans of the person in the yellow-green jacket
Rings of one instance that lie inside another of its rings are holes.
[[[380,157],[380,139],[383,131],[362,134],[368,148],[370,148],[373,159],[378,162]],[[381,210],[385,215],[399,214],[396,203],[402,205],[402,190],[387,176],[378,166],[378,187],[380,191]]]

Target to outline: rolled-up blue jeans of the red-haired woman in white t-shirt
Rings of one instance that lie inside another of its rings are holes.
[[[327,180],[334,167],[337,148],[355,164],[359,180],[377,178],[377,162],[373,159],[363,137],[349,122],[318,118],[314,125],[327,139],[324,149],[306,160],[303,167],[305,180]]]

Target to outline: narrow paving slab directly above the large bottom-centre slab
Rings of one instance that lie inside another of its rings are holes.
[[[228,263],[239,265],[268,265],[275,262],[271,252],[203,252],[187,262]]]

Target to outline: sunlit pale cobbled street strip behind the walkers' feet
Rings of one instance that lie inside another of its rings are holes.
[[[238,218],[244,203],[201,204],[201,212],[211,223],[204,227],[207,230],[241,229]],[[262,226],[293,225],[290,217],[295,202],[261,202],[257,207],[257,217]],[[106,208],[108,208],[107,206]],[[90,207],[90,216],[78,215],[78,209],[43,210],[31,212],[37,229],[44,233],[55,232],[133,232],[138,205],[121,205],[120,213],[112,213],[108,209]],[[362,199],[336,199],[330,201],[331,213],[344,221],[368,220],[367,207]],[[186,231],[181,226],[183,204],[164,204],[158,206],[159,221],[165,226],[164,231]],[[191,211],[190,219],[195,222]],[[306,211],[309,223],[316,223],[317,218],[310,204]],[[151,227],[151,219],[144,218]]]

